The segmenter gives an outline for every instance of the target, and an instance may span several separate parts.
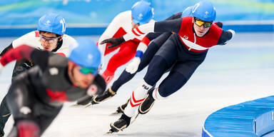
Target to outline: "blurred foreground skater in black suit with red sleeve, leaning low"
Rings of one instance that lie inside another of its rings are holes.
[[[0,68],[28,59],[36,66],[19,74],[6,96],[14,128],[11,136],[41,136],[66,101],[103,93],[106,83],[98,75],[101,54],[90,39],[77,39],[68,59],[49,51],[21,45],[1,56]]]

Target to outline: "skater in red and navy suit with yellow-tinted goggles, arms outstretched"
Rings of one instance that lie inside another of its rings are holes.
[[[144,24],[120,38],[102,41],[116,46],[149,32],[175,32],[153,56],[146,76],[133,90],[123,115],[111,123],[111,133],[127,128],[137,110],[139,113],[147,113],[155,100],[166,98],[178,91],[203,63],[208,49],[226,44],[235,35],[235,31],[224,31],[213,24],[216,11],[210,1],[198,2],[191,7],[191,11],[191,16]],[[171,68],[168,76],[157,88],[153,88],[168,68]]]

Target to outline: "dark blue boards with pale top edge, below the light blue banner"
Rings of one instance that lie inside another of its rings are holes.
[[[69,25],[66,29],[66,34],[70,36],[98,36],[103,34],[107,25],[87,25],[73,26]],[[233,29],[236,33],[239,32],[273,32],[274,23],[267,21],[232,21],[223,22],[223,30]],[[27,34],[30,31],[35,31],[36,26],[12,26],[9,28],[0,27],[0,37],[18,37]]]

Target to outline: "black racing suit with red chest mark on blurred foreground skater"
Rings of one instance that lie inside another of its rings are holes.
[[[65,101],[77,101],[86,98],[87,88],[74,86],[68,77],[68,59],[48,51],[34,49],[31,61],[36,64],[29,71],[20,73],[11,83],[6,102],[14,116],[15,126],[21,120],[34,121],[39,125],[40,133],[54,120]],[[93,83],[97,93],[103,93],[106,83],[97,75]],[[31,111],[24,113],[21,108]],[[9,134],[13,136],[16,130]]]

